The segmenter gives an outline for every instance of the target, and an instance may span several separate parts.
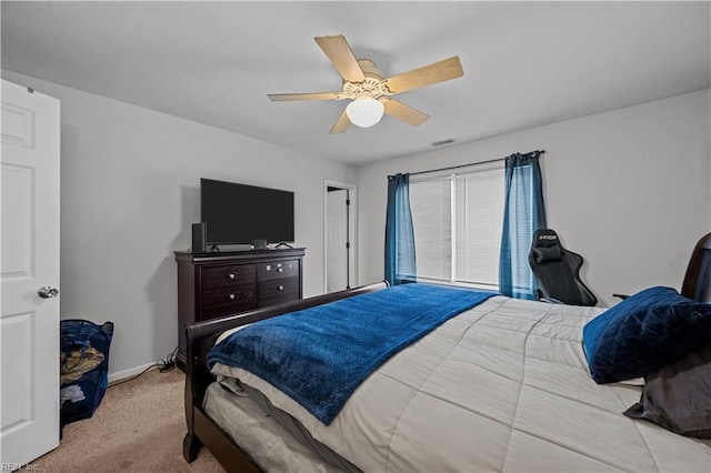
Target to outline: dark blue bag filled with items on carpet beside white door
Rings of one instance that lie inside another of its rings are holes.
[[[60,321],[61,426],[89,419],[109,382],[109,349],[113,322]]]

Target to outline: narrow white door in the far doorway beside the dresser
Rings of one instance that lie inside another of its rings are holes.
[[[341,291],[348,281],[348,191],[327,192],[327,292]]]

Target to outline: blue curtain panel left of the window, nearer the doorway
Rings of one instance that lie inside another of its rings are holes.
[[[414,231],[410,211],[410,175],[388,177],[385,280],[391,285],[415,281]]]

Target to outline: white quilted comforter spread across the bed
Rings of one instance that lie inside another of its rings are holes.
[[[213,372],[367,472],[711,471],[710,441],[622,415],[641,388],[590,379],[581,332],[600,311],[492,298],[389,360],[329,426],[243,370]]]

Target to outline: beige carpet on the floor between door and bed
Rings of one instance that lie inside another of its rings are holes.
[[[188,464],[184,374],[157,369],[116,384],[93,417],[64,426],[59,447],[31,463],[41,472],[224,472],[206,449]]]

